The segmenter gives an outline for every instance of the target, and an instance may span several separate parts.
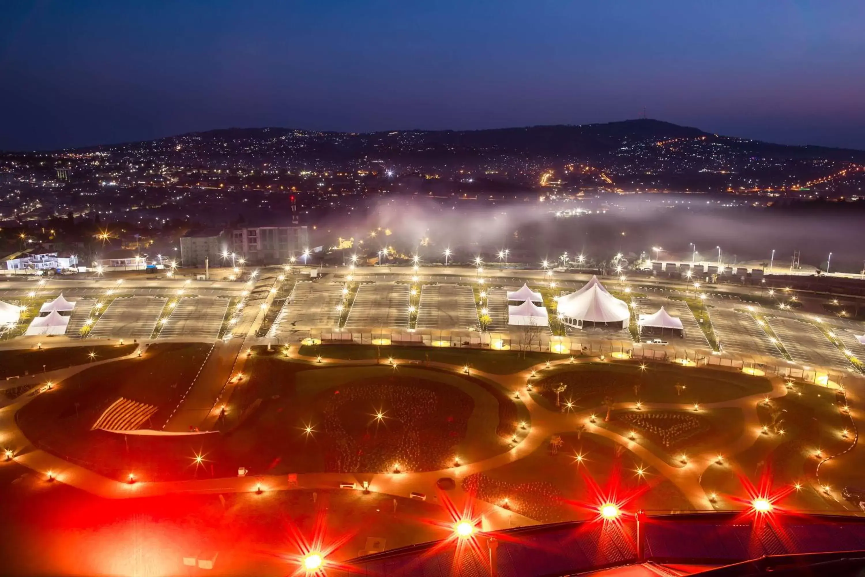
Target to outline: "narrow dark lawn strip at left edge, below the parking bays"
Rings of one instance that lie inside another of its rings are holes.
[[[99,344],[92,347],[59,347],[53,349],[0,350],[0,379],[9,376],[24,376],[42,373],[42,370],[66,369],[73,365],[94,361],[105,361],[129,355],[137,344]]]

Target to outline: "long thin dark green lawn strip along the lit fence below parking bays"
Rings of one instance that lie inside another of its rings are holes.
[[[509,375],[539,363],[552,359],[561,359],[564,355],[553,353],[522,352],[513,350],[478,350],[478,349],[446,349],[436,347],[403,347],[375,346],[366,344],[322,344],[302,345],[300,354],[303,356],[321,355],[324,358],[344,360],[381,359],[387,361],[388,356],[411,361],[447,362],[456,366],[468,364],[472,369],[482,370],[494,375]]]

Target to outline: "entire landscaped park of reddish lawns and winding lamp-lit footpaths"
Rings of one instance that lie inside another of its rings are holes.
[[[209,431],[140,434],[162,429],[209,347],[156,344],[83,369],[34,393],[18,426],[42,450],[119,482],[195,490],[226,478],[249,490],[242,470],[266,486],[367,483],[400,497],[473,495],[515,525],[591,518],[598,499],[626,510],[740,509],[749,483],[769,478],[798,510],[853,509],[838,484],[865,480],[851,467],[830,478],[831,461],[817,474],[855,434],[836,388],[518,351],[258,346]],[[151,407],[146,420],[104,426],[117,422],[119,399]]]

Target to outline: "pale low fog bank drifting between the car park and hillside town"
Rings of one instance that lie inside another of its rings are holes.
[[[420,252],[425,260],[442,258],[445,247],[456,258],[509,248],[511,260],[554,260],[561,253],[586,254],[594,260],[615,253],[638,256],[662,247],[661,260],[714,262],[721,247],[725,264],[768,262],[789,266],[794,251],[803,266],[859,272],[865,260],[865,211],[855,205],[830,203],[797,208],[723,206],[705,196],[611,196],[577,202],[526,200],[473,201],[393,196],[349,219],[331,216],[333,234],[364,239],[368,251],[393,246]],[[579,215],[567,211],[581,209]],[[557,215],[558,213],[558,215]],[[381,231],[377,229],[381,228]],[[391,232],[386,235],[386,232]],[[371,236],[376,231],[375,237]],[[420,240],[428,238],[428,246]],[[336,240],[336,239],[334,239]],[[654,257],[654,251],[652,256]]]

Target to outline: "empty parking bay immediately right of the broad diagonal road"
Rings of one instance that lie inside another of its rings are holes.
[[[343,302],[342,283],[298,281],[273,324],[275,337],[289,337],[297,330],[333,328],[339,325],[336,307]]]

